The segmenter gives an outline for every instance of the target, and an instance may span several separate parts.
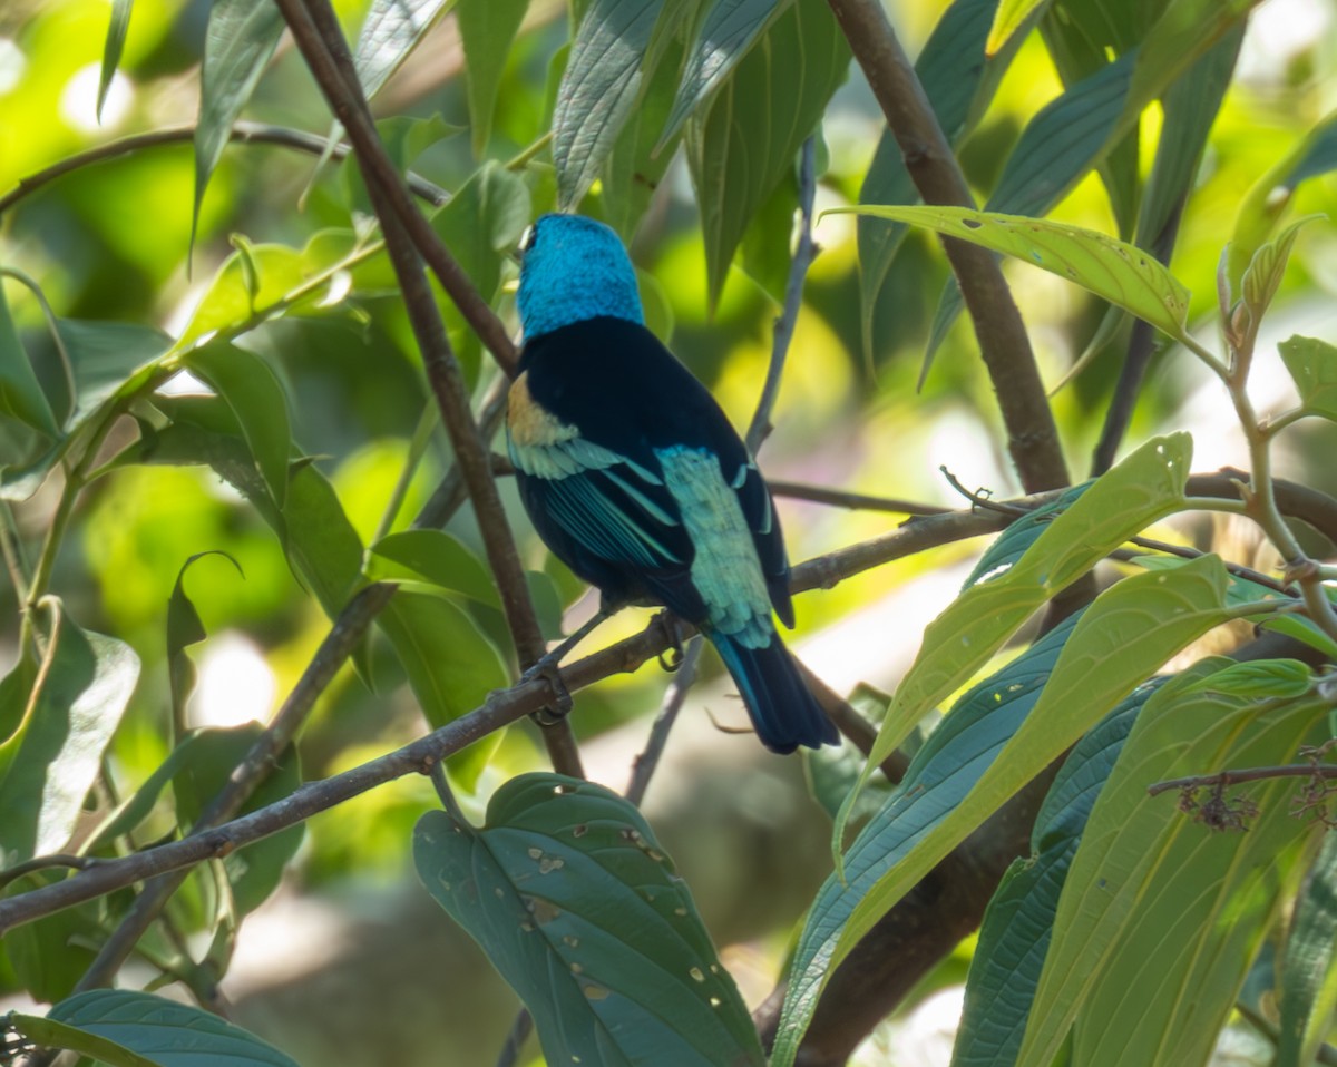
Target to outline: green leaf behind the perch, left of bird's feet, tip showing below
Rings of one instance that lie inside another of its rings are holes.
[[[390,639],[432,729],[472,711],[509,681],[496,646],[445,596],[401,588],[376,624]],[[477,784],[493,747],[472,745],[451,757],[461,785]]]

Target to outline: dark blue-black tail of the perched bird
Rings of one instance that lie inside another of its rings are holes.
[[[749,648],[719,632],[709,636],[738,685],[762,745],[790,753],[800,745],[820,749],[840,742],[779,634],[773,634],[763,648]]]

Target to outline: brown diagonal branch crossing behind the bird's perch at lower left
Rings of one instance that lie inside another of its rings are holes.
[[[227,776],[227,784],[201,813],[191,828],[193,834],[219,826],[235,816],[261,782],[270,776],[279,754],[297,737],[297,731],[316,706],[317,698],[329,687],[344,661],[352,655],[372,620],[390,602],[394,588],[393,583],[381,582],[368,586],[348,602],[329,634],[325,635],[325,640],[316,650],[316,655],[306,665],[302,677],[297,679],[293,691],[287,694],[287,699],[274,714],[273,722],[255,738],[255,743],[251,745],[246,757]],[[180,888],[187,873],[186,869],[174,870],[154,878],[144,886],[120,925],[107,939],[83,977],[79,979],[76,991],[100,988],[115,977],[144,931],[162,912],[171,895]]]

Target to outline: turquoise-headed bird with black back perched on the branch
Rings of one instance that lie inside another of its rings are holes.
[[[507,401],[520,499],[602,607],[662,604],[718,650],[761,742],[840,742],[781,640],[794,624],[779,519],[705,385],[646,326],[618,234],[547,214],[520,247],[523,346]]]

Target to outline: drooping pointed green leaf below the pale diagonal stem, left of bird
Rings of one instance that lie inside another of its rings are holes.
[[[269,495],[282,508],[293,433],[278,376],[254,353],[218,342],[190,352],[185,365],[227,401]]]

